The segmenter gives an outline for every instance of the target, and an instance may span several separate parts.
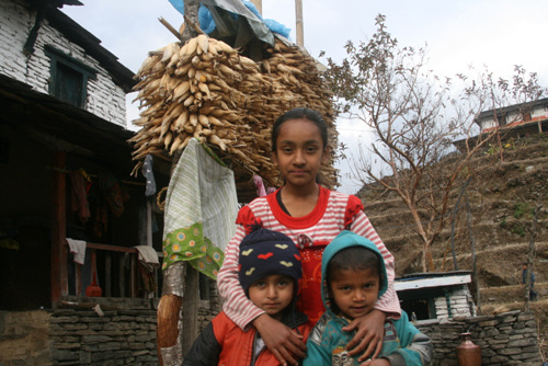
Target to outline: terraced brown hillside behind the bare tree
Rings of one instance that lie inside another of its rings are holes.
[[[476,176],[467,193],[470,203],[471,232],[466,211],[456,220],[458,270],[472,270],[471,239],[476,247],[482,314],[524,308],[522,263],[527,259],[533,210],[541,209],[536,224],[535,289],[539,300],[530,304],[539,322],[540,341],[548,352],[548,136],[536,135],[513,141],[500,155],[489,151],[475,158]],[[452,193],[455,205],[460,186]],[[396,274],[422,272],[420,239],[414,232],[409,209],[392,194],[374,194],[364,187],[361,198],[365,211],[396,258]],[[432,248],[437,272],[455,270],[450,250],[450,221]]]

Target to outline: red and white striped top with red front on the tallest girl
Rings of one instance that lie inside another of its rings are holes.
[[[302,279],[297,308],[309,317],[312,324],[324,311],[321,300],[323,249],[345,229],[373,241],[383,254],[388,274],[388,290],[377,300],[376,308],[399,318],[401,309],[393,287],[393,256],[386,249],[363,211],[364,207],[359,198],[320,186],[320,195],[315,209],[307,216],[292,217],[279,207],[276,193],[253,199],[238,213],[236,235],[228,243],[225,262],[217,276],[220,296],[225,298],[222,307],[228,317],[241,329],[247,329],[252,320],[264,313],[246,297],[238,281],[240,242],[246,236],[246,227],[259,219],[264,228],[285,233],[298,245],[301,254]]]

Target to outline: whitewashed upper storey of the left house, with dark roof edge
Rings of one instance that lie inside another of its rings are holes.
[[[57,8],[78,0],[0,2],[0,76],[126,125],[134,73]]]

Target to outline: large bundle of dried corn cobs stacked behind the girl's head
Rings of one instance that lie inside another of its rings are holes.
[[[134,174],[148,153],[173,156],[194,137],[213,147],[244,183],[260,174],[267,185],[279,185],[270,159],[271,127],[296,106],[326,116],[334,151],[331,95],[316,61],[281,41],[267,52],[261,67],[224,42],[198,35],[150,53],[136,76],[142,112],[135,122],[141,128],[129,140],[139,161]],[[336,185],[332,160],[324,176],[327,185]]]

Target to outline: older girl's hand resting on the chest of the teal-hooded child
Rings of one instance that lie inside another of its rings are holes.
[[[385,319],[386,314],[383,311],[374,309],[362,318],[354,319],[342,329],[345,332],[357,329],[354,338],[346,344],[346,350],[350,351],[351,356],[362,354],[357,358],[358,362],[378,356],[385,336]]]

